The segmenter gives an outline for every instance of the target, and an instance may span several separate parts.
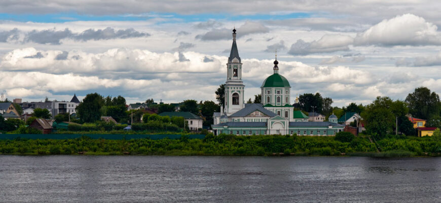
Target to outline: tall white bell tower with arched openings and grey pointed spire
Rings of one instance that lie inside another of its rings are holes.
[[[236,44],[236,28],[233,29],[233,45],[227,63],[227,82],[225,83],[224,112],[231,115],[244,108],[244,88],[242,81],[242,62]]]

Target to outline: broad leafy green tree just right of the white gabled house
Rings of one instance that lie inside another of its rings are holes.
[[[366,123],[367,133],[377,139],[382,139],[387,133],[393,131],[395,116],[391,111],[391,106],[392,99],[387,96],[378,96],[372,104],[366,106],[361,117]]]

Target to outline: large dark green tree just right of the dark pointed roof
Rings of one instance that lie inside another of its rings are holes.
[[[95,122],[101,119],[101,107],[104,106],[103,98],[98,93],[87,94],[77,106],[77,115],[83,122]]]

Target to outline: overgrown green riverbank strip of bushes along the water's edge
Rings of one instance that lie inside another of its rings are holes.
[[[380,152],[377,151],[380,149]],[[389,137],[377,142],[366,136],[351,142],[316,136],[233,136],[204,139],[105,140],[81,137],[63,140],[0,140],[0,154],[19,155],[252,155],[252,156],[439,156],[441,142],[432,138]]]

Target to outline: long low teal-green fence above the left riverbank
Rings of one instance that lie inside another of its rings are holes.
[[[106,139],[106,140],[131,140],[131,139],[143,139],[149,138],[152,140],[160,140],[164,138],[179,139],[180,134],[0,134],[0,140],[13,140],[16,138],[25,139],[76,139],[82,136],[89,137],[91,139]],[[204,134],[189,134],[190,139],[204,139]]]

